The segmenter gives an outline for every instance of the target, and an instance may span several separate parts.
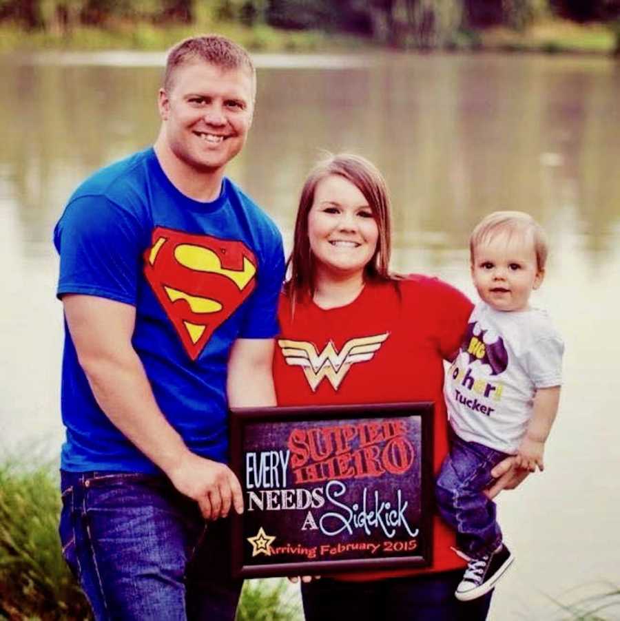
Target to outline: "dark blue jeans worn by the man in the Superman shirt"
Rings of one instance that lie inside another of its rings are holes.
[[[227,520],[205,527],[198,505],[164,476],[61,471],[63,556],[97,621],[230,621]]]

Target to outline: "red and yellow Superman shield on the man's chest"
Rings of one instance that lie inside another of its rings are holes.
[[[144,260],[144,275],[192,360],[256,287],[256,257],[243,242],[156,227]]]

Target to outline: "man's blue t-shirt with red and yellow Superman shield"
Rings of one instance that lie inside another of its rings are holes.
[[[152,148],[87,179],[56,229],[58,295],[136,307],[132,343],[159,408],[196,454],[226,461],[226,373],[236,338],[278,333],[284,275],[276,225],[225,178],[219,198],[183,195]],[[156,472],[97,405],[65,326],[61,467]]]

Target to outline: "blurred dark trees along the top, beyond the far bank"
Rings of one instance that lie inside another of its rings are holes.
[[[620,49],[620,0],[0,0],[0,22],[70,32],[76,25],[192,24],[196,14],[247,26],[355,34],[396,48],[450,48],[503,26],[557,17],[607,23]]]

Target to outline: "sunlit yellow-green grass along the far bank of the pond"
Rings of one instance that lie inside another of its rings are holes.
[[[489,28],[459,30],[446,42],[454,50],[509,50],[611,54],[620,45],[620,22],[578,24],[561,19],[540,20],[524,31]],[[361,36],[327,34],[318,30],[280,30],[265,23],[245,26],[218,21],[208,10],[198,11],[190,25],[110,18],[97,28],[78,25],[70,32],[58,29],[25,31],[0,23],[0,52],[34,50],[151,50],[160,51],[200,32],[229,36],[254,52],[338,52],[378,47]]]

